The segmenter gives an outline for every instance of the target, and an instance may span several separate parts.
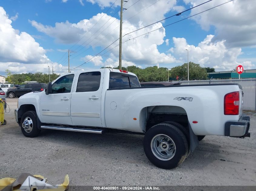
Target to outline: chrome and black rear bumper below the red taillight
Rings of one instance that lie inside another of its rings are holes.
[[[244,114],[238,121],[227,121],[225,123],[225,136],[229,137],[250,137],[250,117]]]

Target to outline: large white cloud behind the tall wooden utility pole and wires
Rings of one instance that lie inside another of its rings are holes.
[[[105,14],[104,16],[103,15],[104,13],[99,13],[89,20],[84,19],[78,23],[69,23],[68,21],[66,21],[65,23],[55,23],[55,27],[45,26],[36,21],[30,22],[34,27],[37,28],[38,31],[44,32],[47,35],[54,37],[57,42],[76,43],[80,38],[83,37],[83,39],[79,41],[78,44],[86,42],[83,44],[83,46],[88,45],[87,47],[89,47],[89,45],[91,45],[93,47],[107,47],[111,42],[114,42],[119,38],[119,30],[114,29],[117,26],[119,26],[120,21],[116,18],[112,18],[107,14]],[[100,18],[101,20],[99,21]],[[107,21],[108,24],[105,24],[105,22]],[[105,24],[105,26],[102,27],[102,29],[100,29],[98,32],[97,30],[99,29],[99,27],[94,27],[91,29],[91,27],[94,26],[96,22],[98,22],[97,26],[102,26],[103,24]],[[112,22],[113,24],[111,24],[108,27],[108,25]],[[126,35],[125,37],[123,37],[123,42],[128,40],[122,45],[123,59],[134,63],[139,63],[140,65],[155,65],[157,63],[175,62],[175,58],[171,54],[160,53],[157,48],[157,46],[165,42],[163,40],[163,38],[165,37],[164,28],[161,30],[157,30],[153,33],[149,33],[145,36],[129,40],[133,37],[137,37],[141,34],[150,32],[151,30],[157,29],[159,27],[162,27],[161,23],[157,23],[155,25],[152,25],[150,27],[147,27],[145,29],[139,30],[135,33],[131,33],[130,35]],[[138,29],[136,25],[126,22],[123,25],[123,34],[129,33],[136,29]],[[113,32],[111,33],[111,31]],[[110,34],[107,37],[105,37],[105,35],[107,35],[108,33]],[[95,40],[93,40],[94,38]],[[106,51],[115,47],[116,45],[118,45],[118,43],[119,42],[116,41],[113,45],[106,49]],[[115,57],[118,57],[118,47],[113,49],[110,53],[113,53]],[[75,53],[73,55],[75,55]],[[99,63],[95,62],[95,65],[97,64]]]

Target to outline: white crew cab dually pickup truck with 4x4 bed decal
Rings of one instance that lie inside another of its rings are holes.
[[[250,137],[242,104],[238,84],[140,87],[135,74],[105,68],[62,75],[21,96],[15,118],[26,137],[41,129],[143,134],[148,159],[171,169],[205,135]]]

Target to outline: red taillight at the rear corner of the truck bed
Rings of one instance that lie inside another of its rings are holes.
[[[239,114],[239,91],[228,93],[224,96],[224,115]]]

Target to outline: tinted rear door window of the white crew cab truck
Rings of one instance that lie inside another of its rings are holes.
[[[78,78],[76,92],[97,91],[100,87],[101,72],[81,73]]]

